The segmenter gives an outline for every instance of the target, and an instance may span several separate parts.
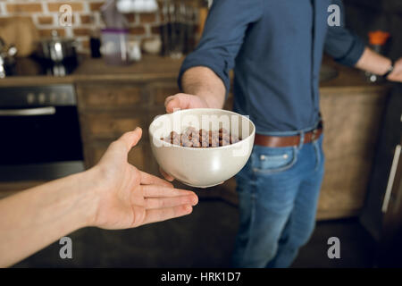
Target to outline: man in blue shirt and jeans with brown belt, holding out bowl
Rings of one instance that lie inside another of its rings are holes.
[[[323,51],[339,63],[402,81],[401,59],[392,63],[366,48],[343,21],[340,27],[328,25],[331,4],[341,5],[337,0],[215,0],[203,37],[180,70],[184,94],[166,98],[170,113],[222,108],[234,68],[234,110],[256,126],[252,155],[236,176],[235,266],[288,267],[314,230],[324,161]]]

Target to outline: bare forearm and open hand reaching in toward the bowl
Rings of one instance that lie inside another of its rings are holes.
[[[86,226],[121,230],[190,214],[196,194],[127,162],[142,130],[113,142],[99,164],[0,200],[0,267]]]

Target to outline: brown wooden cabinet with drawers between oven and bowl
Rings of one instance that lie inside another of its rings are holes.
[[[158,173],[149,145],[147,128],[156,115],[164,114],[164,99],[179,92],[175,79],[79,83],[79,113],[85,164],[91,167],[108,145],[126,131],[143,129],[138,146],[129,154],[130,164]]]

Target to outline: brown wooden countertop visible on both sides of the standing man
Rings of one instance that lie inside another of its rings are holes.
[[[104,59],[92,59],[80,57],[80,66],[71,74],[65,77],[52,76],[23,76],[10,77],[0,80],[0,87],[49,85],[60,83],[80,83],[88,81],[147,81],[147,80],[175,80],[180,70],[183,59],[172,59],[157,55],[143,55],[138,63],[131,63],[127,66],[106,65]],[[331,91],[335,88],[381,88],[384,84],[371,84],[364,79],[362,71],[348,68],[329,59],[325,63],[335,67],[339,76],[333,80],[322,82],[322,90]]]

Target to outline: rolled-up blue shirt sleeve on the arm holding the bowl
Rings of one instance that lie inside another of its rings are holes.
[[[205,66],[221,78],[226,95],[229,93],[229,71],[234,67],[248,25],[262,16],[261,5],[262,0],[214,0],[197,48],[181,65],[178,79],[180,89],[185,71],[191,67]]]

